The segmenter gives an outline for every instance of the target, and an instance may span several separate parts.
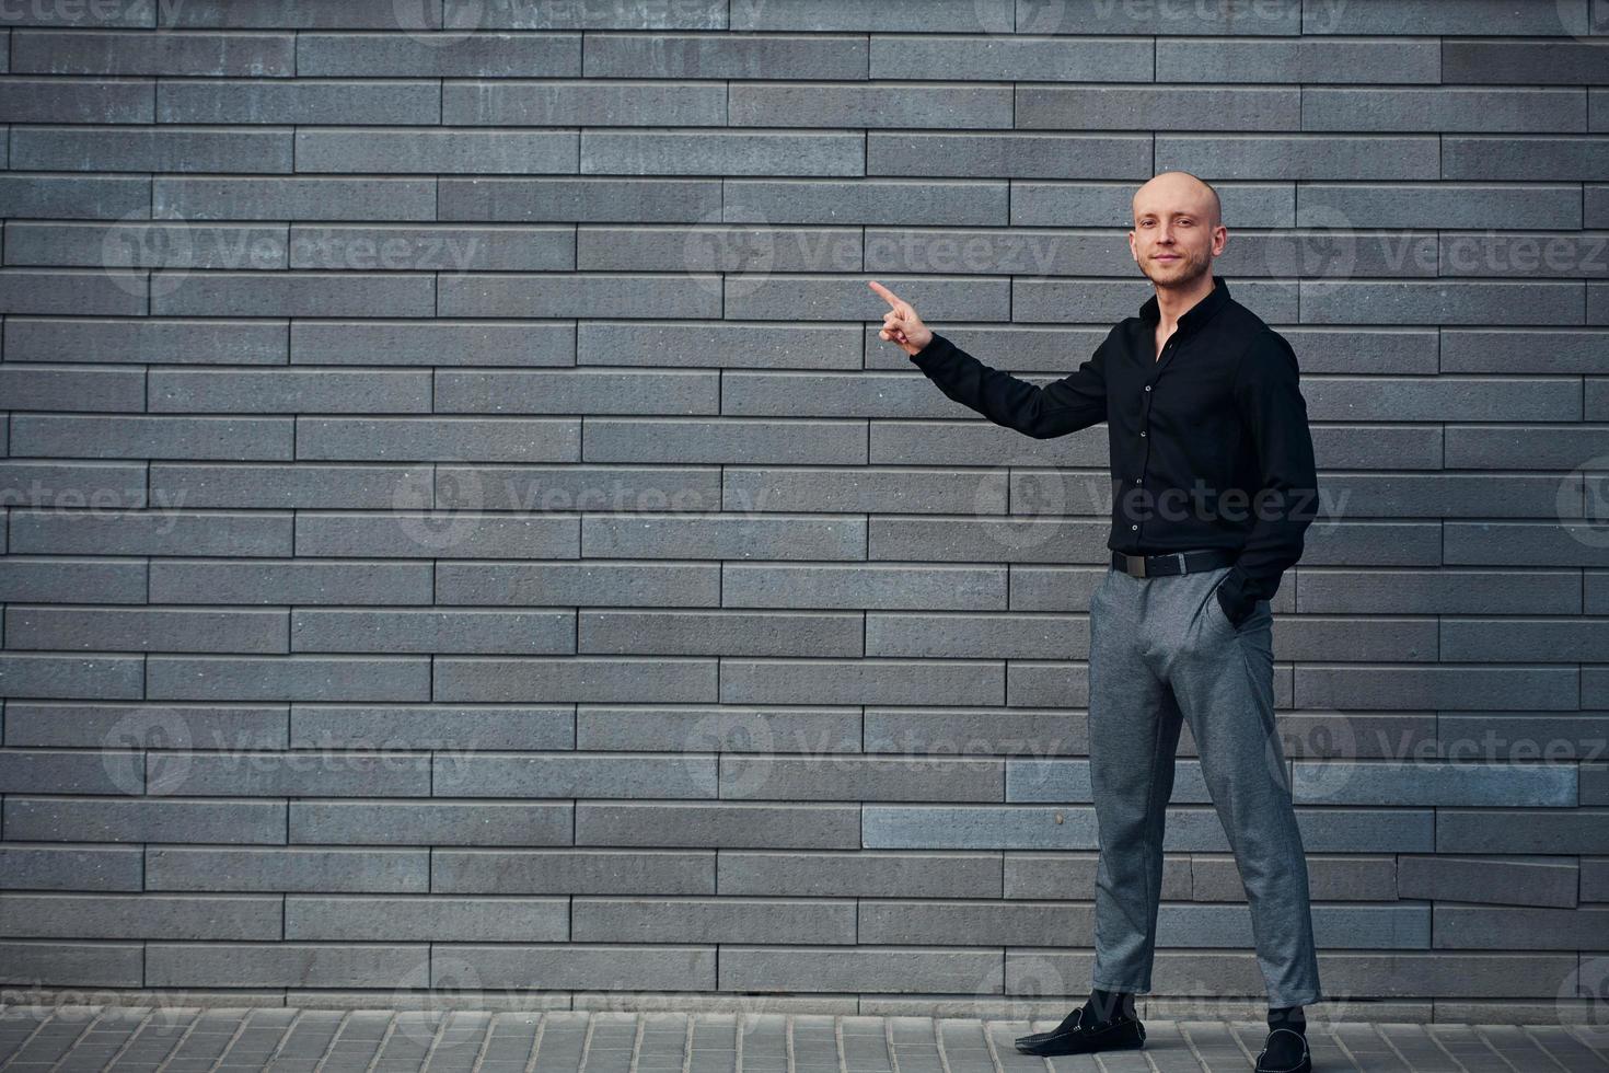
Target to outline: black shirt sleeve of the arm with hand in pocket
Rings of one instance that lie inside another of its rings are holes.
[[[1234,399],[1257,449],[1258,489],[1247,510],[1253,524],[1241,557],[1218,586],[1218,605],[1239,626],[1258,600],[1273,598],[1279,578],[1302,558],[1307,528],[1318,515],[1318,473],[1295,351],[1276,331],[1263,333],[1234,373]]]

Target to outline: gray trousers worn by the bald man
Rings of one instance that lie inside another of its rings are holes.
[[[1189,719],[1234,851],[1270,1005],[1321,997],[1307,857],[1274,729],[1268,600],[1236,629],[1215,589],[1229,566],[1134,578],[1089,600],[1089,777],[1099,827],[1096,964],[1105,991],[1150,991],[1162,832]]]

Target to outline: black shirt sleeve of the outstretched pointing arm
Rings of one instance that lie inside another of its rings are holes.
[[[1104,343],[1072,375],[1043,388],[985,365],[936,331],[911,360],[956,402],[1035,439],[1076,433],[1107,415]]]

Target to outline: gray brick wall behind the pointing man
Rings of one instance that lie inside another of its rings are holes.
[[[0,13],[8,994],[1064,1009],[1105,433],[951,404],[866,280],[1062,375],[1183,167],[1331,500],[1335,1013],[1601,1001],[1606,0]],[[1194,753],[1152,997],[1249,1010]]]

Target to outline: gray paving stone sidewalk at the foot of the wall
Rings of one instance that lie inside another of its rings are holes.
[[[1249,1073],[1257,1022],[1146,1020],[1142,1050],[1035,1059],[1039,1020],[677,1012],[0,1009],[0,1073]],[[1603,1025],[1310,1025],[1315,1073],[1609,1070]]]

